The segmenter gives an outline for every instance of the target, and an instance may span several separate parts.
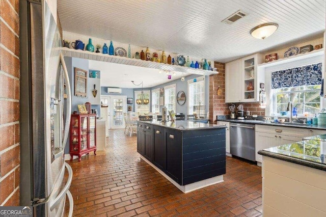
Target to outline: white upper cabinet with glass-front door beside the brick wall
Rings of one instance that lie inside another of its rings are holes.
[[[225,64],[225,102],[258,102],[260,83],[265,74],[257,65],[263,61],[256,53]]]

